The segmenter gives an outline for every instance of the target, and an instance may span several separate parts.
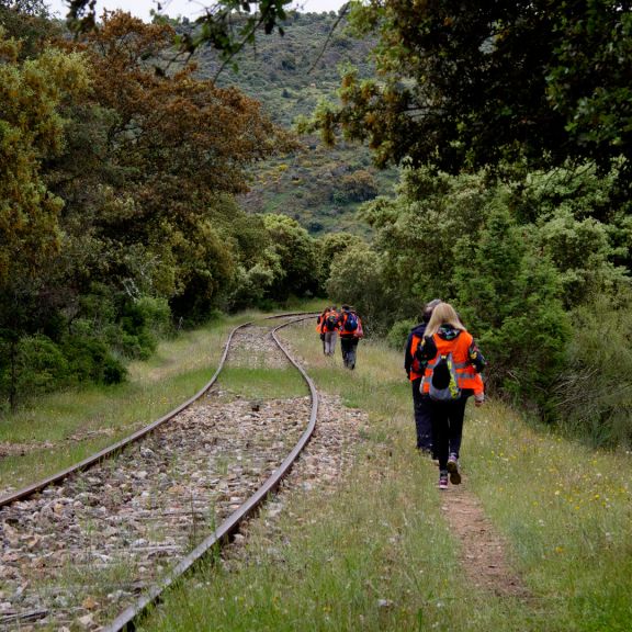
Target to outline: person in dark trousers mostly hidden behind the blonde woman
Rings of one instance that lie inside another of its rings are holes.
[[[432,311],[441,301],[435,298],[426,304],[421,314],[421,323],[415,325],[406,341],[404,354],[404,369],[413,385],[413,411],[415,415],[415,429],[417,431],[417,450],[424,454],[432,454],[432,406],[430,397],[420,391],[425,365],[415,357],[424,340],[426,326],[432,316]]]

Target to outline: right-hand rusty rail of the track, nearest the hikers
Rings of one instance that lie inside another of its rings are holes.
[[[276,337],[276,331],[289,325],[300,323],[302,320],[307,320],[312,318],[314,314],[303,315],[302,318],[296,318],[289,323],[283,323],[272,330],[272,338],[274,342],[279,346],[281,351],[285,354],[287,360],[298,370],[307,386],[309,387],[309,393],[312,396],[312,410],[309,414],[309,422],[307,428],[304,430],[303,435],[298,439],[296,445],[292,449],[290,454],[284,459],[284,461],[279,465],[279,467],[264,481],[264,483],[257,489],[257,492],[250,496],[245,503],[242,503],[238,509],[236,509],[219,527],[208,535],[201,544],[199,544],[191,553],[183,557],[169,573],[168,576],[162,578],[159,584],[151,587],[145,595],[139,597],[133,606],[126,608],[121,612],[112,623],[105,625],[101,629],[101,632],[132,632],[136,629],[136,621],[142,617],[149,606],[155,605],[159,601],[161,594],[172,586],[184,573],[191,569],[196,562],[200,561],[210,550],[213,550],[225,542],[230,540],[240,523],[248,518],[261,503],[267,498],[267,496],[279,487],[279,484],[283,477],[290,472],[292,465],[298,458],[298,454],[303,451],[312,435],[316,428],[316,417],[318,415],[318,392],[312,379],[305,373],[303,368],[298,362],[290,354],[290,352],[283,347],[279,338]],[[271,316],[269,318],[279,318],[281,316]]]

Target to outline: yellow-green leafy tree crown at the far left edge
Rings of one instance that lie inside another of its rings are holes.
[[[88,87],[80,55],[49,49],[21,63],[19,50],[0,31],[0,287],[37,276],[59,247],[63,201],[42,161],[64,147],[64,101]]]

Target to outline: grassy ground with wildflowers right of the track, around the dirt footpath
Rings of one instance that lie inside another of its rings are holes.
[[[249,563],[182,582],[145,630],[629,630],[630,454],[533,429],[500,404],[469,409],[465,485],[532,594],[495,596],[463,572],[441,509],[450,492],[413,449],[400,356],[363,342],[351,373],[323,358],[312,327],[285,336],[319,388],[369,411],[357,465],[336,494],[294,493],[280,532],[253,521]]]

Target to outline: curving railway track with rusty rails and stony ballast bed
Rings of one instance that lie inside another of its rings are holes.
[[[314,384],[275,330],[230,334],[208,384],[75,467],[0,498],[0,630],[131,630],[144,609],[290,471],[314,430]],[[309,396],[251,400],[228,366],[294,365]]]

